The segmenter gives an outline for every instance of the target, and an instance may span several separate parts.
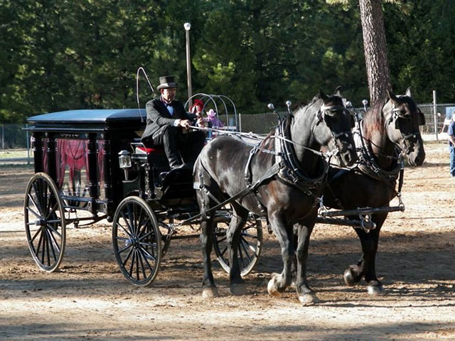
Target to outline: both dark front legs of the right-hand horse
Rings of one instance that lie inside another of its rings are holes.
[[[362,244],[362,257],[358,264],[350,265],[344,272],[344,281],[346,285],[353,286],[365,276],[365,281],[368,285],[368,293],[370,295],[379,295],[384,293],[382,283],[376,276],[375,261],[376,252],[378,251],[379,234],[382,224],[384,224],[387,213],[373,215],[372,221],[376,227],[370,232],[365,232],[364,229],[357,228],[355,232],[358,234],[360,243]]]

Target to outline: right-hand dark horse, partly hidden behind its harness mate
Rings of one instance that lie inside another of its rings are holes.
[[[388,92],[387,98],[378,101],[360,121],[364,148],[354,168],[331,167],[323,195],[323,204],[342,210],[358,207],[387,207],[397,196],[397,179],[401,156],[412,166],[420,166],[425,159],[424,145],[419,126],[425,123],[424,115],[411,98],[410,89],[404,96]],[[379,233],[387,212],[371,215],[376,224],[373,229],[355,228],[363,256],[344,273],[348,286],[361,278],[368,284],[368,293],[383,292],[376,277],[375,257]],[[359,217],[350,217],[359,219]]]

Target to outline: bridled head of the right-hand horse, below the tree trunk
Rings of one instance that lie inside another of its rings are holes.
[[[405,95],[396,96],[387,90],[388,101],[382,109],[387,137],[398,146],[412,166],[420,166],[425,151],[419,126],[425,124],[424,114],[411,97],[410,88]]]

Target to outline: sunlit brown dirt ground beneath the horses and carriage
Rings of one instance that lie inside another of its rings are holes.
[[[214,260],[221,297],[203,300],[197,238],[171,242],[150,288],[130,285],[106,221],[70,225],[61,270],[43,273],[23,229],[33,170],[0,166],[0,340],[455,340],[455,180],[446,144],[427,143],[426,150],[424,166],[405,171],[406,211],[391,213],[382,227],[377,272],[386,294],[344,285],[343,271],[360,256],[356,234],[318,225],[308,270],[321,303],[311,306],[293,291],[267,294],[282,261],[265,229],[245,296],[230,296]]]

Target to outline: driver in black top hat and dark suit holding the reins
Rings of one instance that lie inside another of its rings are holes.
[[[161,96],[146,104],[147,121],[141,141],[147,147],[164,148],[171,169],[190,166],[203,148],[205,133],[188,132],[193,121],[182,102],[175,99],[177,83],[173,76],[159,77],[157,89]],[[203,126],[203,120],[198,118],[196,124]]]

